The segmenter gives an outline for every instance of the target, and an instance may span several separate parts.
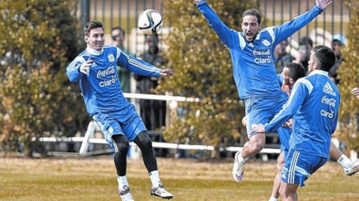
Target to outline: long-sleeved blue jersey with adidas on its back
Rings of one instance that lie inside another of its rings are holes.
[[[293,117],[289,147],[303,153],[329,157],[331,135],[338,120],[340,94],[328,72],[314,70],[294,84],[283,109],[265,125],[271,132]]]

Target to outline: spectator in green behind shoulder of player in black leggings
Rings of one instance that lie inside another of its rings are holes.
[[[123,30],[119,26],[112,28],[111,40],[109,44],[117,46],[127,55],[134,56],[133,53],[131,53],[123,46],[123,41],[125,41],[125,30]],[[117,73],[118,77],[121,80],[122,92],[131,92],[131,73],[128,70],[119,66],[117,66]]]

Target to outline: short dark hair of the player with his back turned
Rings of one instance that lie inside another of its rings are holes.
[[[335,64],[335,54],[333,50],[324,45],[313,48],[314,56],[317,59],[319,69],[329,72]]]

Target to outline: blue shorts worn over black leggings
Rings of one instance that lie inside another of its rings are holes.
[[[125,115],[121,113],[100,112],[94,114],[92,117],[101,129],[111,148],[114,148],[113,135],[125,135],[126,138],[132,142],[140,132],[147,130],[141,117],[137,114],[135,107],[133,105],[130,105],[130,107]]]

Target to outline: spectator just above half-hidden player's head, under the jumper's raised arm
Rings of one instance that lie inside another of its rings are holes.
[[[284,66],[292,62],[293,57],[285,51],[288,46],[288,39],[283,40],[279,45],[274,48],[273,59],[276,66],[277,74],[280,74]]]

